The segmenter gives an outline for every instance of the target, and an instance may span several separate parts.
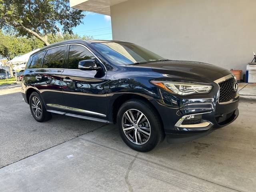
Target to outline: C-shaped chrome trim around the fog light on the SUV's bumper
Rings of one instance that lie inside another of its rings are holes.
[[[182,122],[190,115],[200,115],[200,114],[206,114],[206,113],[210,113],[210,112],[204,112],[204,113],[196,113],[196,114],[189,114],[189,115],[184,115],[182,116],[182,118],[180,118],[176,124],[175,124],[175,127],[178,127],[178,128],[194,128],[196,130],[208,130],[209,128],[206,128],[208,127],[210,124],[212,124],[211,122],[208,122],[208,121],[205,121],[203,120],[202,123],[199,123],[199,124],[192,124],[192,125],[182,125]]]

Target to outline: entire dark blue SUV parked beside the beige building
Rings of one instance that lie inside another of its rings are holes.
[[[22,96],[38,122],[52,113],[117,124],[132,149],[193,140],[238,117],[234,75],[211,64],[168,60],[136,44],[68,40],[28,60]]]

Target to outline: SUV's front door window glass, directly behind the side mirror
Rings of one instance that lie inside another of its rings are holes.
[[[68,68],[78,69],[78,62],[86,59],[95,59],[86,48],[79,45],[70,45],[68,54]]]

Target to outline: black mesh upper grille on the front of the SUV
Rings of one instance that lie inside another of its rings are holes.
[[[230,78],[226,81],[219,83],[220,86],[220,97],[219,102],[227,102],[235,98],[236,91],[234,90],[234,78]]]

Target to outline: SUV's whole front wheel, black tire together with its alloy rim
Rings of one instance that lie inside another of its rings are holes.
[[[154,149],[164,139],[160,117],[147,102],[142,100],[128,100],[122,104],[117,114],[117,125],[126,145],[139,152]]]

